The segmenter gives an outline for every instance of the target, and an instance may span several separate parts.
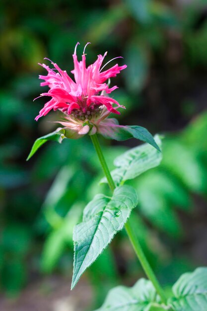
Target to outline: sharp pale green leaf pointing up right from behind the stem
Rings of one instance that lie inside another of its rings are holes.
[[[154,137],[156,144],[161,148],[159,135]],[[146,170],[159,165],[162,154],[148,144],[144,144],[130,149],[123,155],[114,160],[115,166],[111,174],[117,185],[124,183],[126,180],[134,179]],[[107,182],[104,177],[101,182]]]

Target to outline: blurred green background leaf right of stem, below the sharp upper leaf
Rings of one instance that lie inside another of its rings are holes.
[[[163,152],[164,153],[164,152]],[[162,166],[162,163],[161,163]],[[183,230],[175,207],[190,212],[191,198],[175,176],[157,167],[133,181],[137,189],[138,209],[153,226],[173,238],[181,237]]]

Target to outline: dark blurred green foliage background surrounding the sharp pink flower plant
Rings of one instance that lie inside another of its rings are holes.
[[[109,288],[132,285],[142,269],[125,232],[72,293],[72,228],[103,176],[90,140],[48,143],[29,162],[34,140],[54,130],[37,65],[67,70],[87,46],[88,64],[108,51],[128,68],[112,80],[126,106],[120,123],[162,133],[163,161],[137,180],[138,234],[159,280],[207,265],[207,1],[1,0],[0,2],[0,309],[83,311]],[[46,61],[47,62],[47,61]],[[46,88],[45,88],[46,89]],[[111,162],[137,146],[102,140]]]

